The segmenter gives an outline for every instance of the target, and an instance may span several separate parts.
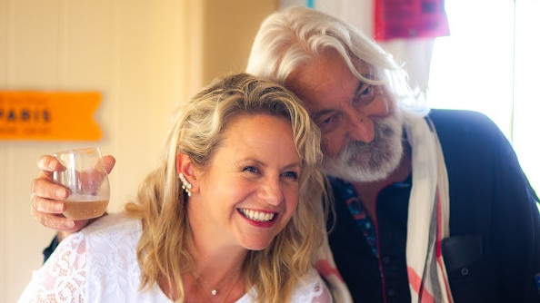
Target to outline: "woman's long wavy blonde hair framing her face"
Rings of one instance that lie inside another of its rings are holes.
[[[188,155],[205,171],[228,123],[239,115],[261,113],[291,122],[303,167],[295,214],[270,246],[248,252],[243,266],[245,286],[255,286],[259,302],[285,302],[312,267],[324,239],[327,205],[320,134],[293,93],[279,84],[240,73],[218,79],[181,108],[167,137],[164,161],[141,184],[137,200],[125,206],[128,214],[142,218],[144,224],[137,247],[143,272],[141,288],[165,279],[183,300],[181,275],[195,266],[188,201],[176,175],[176,154]]]

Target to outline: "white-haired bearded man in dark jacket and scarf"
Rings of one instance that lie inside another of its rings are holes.
[[[246,72],[321,129],[335,216],[318,266],[335,289],[341,274],[357,302],[540,302],[538,198],[493,122],[419,105],[381,47],[304,7],[266,18]]]

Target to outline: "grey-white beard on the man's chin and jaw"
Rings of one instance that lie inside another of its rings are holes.
[[[325,155],[325,172],[351,182],[384,180],[401,161],[402,135],[403,120],[399,113],[377,120],[375,139],[369,143],[350,142],[334,158]]]

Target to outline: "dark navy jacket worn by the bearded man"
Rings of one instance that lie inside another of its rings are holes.
[[[429,117],[448,171],[450,237],[442,249],[455,302],[540,302],[538,198],[512,146],[481,113],[432,110]],[[335,223],[330,246],[357,302],[410,301],[405,263],[410,189],[399,183],[377,197],[379,259],[335,191],[338,219],[329,220]]]

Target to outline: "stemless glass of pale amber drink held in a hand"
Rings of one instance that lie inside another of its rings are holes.
[[[53,179],[71,190],[65,200],[66,218],[84,220],[101,217],[109,203],[109,179],[99,148],[55,152],[64,171],[55,171]]]

